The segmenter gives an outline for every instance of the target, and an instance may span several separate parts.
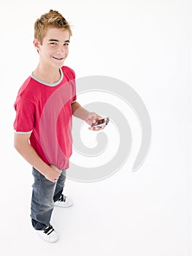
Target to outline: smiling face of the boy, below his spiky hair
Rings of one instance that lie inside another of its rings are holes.
[[[39,62],[50,67],[62,67],[69,53],[69,31],[48,28],[42,45],[34,39],[34,46],[39,52]]]

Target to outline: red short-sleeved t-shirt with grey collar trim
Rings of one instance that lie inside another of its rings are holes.
[[[15,101],[15,132],[31,133],[30,143],[47,165],[69,167],[72,154],[72,102],[76,100],[75,74],[61,67],[57,83],[31,75]]]

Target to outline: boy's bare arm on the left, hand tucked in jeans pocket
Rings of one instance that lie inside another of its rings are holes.
[[[42,173],[45,178],[55,182],[60,176],[59,170],[55,170],[52,165],[47,165],[36,153],[34,148],[28,142],[30,134],[19,134],[15,133],[14,136],[14,146],[16,150],[21,154],[21,156],[26,159],[26,161],[34,166],[39,173]]]

